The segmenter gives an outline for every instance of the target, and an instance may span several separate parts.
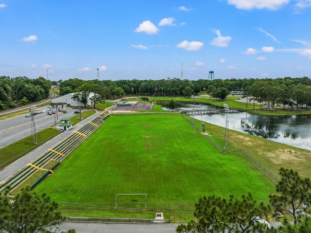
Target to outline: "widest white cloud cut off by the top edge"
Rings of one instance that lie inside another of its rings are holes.
[[[289,0],[227,0],[230,5],[235,5],[238,9],[251,10],[268,8],[269,10],[277,10],[285,5]]]

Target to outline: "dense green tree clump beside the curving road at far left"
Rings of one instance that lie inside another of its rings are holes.
[[[10,78],[0,76],[0,111],[45,99],[49,96],[51,81],[38,77]]]

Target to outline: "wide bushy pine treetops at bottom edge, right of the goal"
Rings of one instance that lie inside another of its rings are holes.
[[[251,194],[242,198],[224,199],[221,197],[202,197],[195,204],[194,217],[187,225],[176,228],[177,233],[250,233],[273,232],[264,224],[255,223],[256,217],[265,216],[268,208],[257,203]]]

